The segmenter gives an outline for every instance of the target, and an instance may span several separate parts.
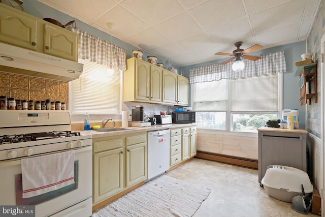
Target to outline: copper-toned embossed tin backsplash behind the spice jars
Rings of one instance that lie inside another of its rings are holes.
[[[68,110],[69,84],[44,78],[0,72],[0,96],[19,100],[65,102]]]

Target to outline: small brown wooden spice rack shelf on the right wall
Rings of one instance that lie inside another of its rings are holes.
[[[310,105],[313,97],[317,103],[317,63],[299,66],[295,75],[297,74],[299,74],[300,105],[307,104],[307,101]],[[311,81],[313,81],[313,89]]]

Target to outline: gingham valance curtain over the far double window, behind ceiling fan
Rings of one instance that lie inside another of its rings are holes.
[[[258,56],[261,58],[256,61],[242,59],[245,63],[245,68],[241,72],[234,72],[232,70],[233,61],[225,65],[213,64],[190,69],[189,82],[194,84],[200,82],[219,81],[221,79],[247,78],[286,71],[283,50]]]

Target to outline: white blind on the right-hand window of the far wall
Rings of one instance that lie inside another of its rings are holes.
[[[278,73],[231,80],[231,112],[278,112]]]

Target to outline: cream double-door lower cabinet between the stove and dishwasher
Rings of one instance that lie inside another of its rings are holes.
[[[146,179],[146,133],[93,138],[93,205]]]

